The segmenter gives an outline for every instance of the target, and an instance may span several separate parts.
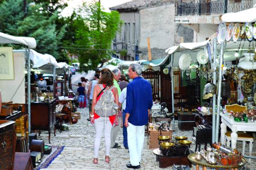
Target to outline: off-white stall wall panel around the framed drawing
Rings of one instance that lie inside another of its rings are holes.
[[[13,60],[15,79],[0,80],[2,102],[25,103],[25,54],[15,52]]]

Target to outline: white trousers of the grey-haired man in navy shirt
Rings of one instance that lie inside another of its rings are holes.
[[[128,125],[129,126],[127,127],[127,139],[130,153],[130,162],[131,165],[137,166],[140,164],[143,152],[145,125],[134,126],[131,123],[128,123]]]

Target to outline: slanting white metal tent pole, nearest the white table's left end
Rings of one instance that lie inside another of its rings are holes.
[[[220,124],[220,107],[221,107],[221,83],[222,83],[222,64],[223,55],[227,45],[227,41],[221,44],[221,56],[219,64],[219,77],[218,77],[218,98],[217,98],[217,115],[216,115],[216,130],[215,130],[215,142],[219,140],[219,124]]]

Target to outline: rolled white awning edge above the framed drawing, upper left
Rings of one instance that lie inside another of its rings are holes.
[[[23,44],[29,48],[36,47],[35,38],[32,37],[15,37],[0,32],[0,44]]]

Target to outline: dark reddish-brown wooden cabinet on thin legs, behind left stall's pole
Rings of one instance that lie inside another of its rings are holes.
[[[50,102],[31,103],[31,130],[48,130],[49,143],[51,129],[55,125],[55,99]]]

